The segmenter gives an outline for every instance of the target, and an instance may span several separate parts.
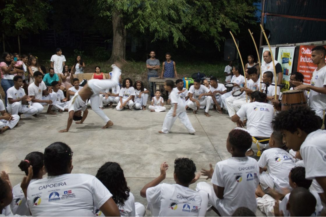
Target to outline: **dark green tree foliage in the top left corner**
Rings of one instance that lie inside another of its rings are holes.
[[[2,0],[1,29],[7,36],[38,33],[47,29],[46,17],[51,9],[44,0]]]

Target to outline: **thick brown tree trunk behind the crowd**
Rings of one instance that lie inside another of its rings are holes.
[[[126,58],[126,36],[127,32],[122,18],[119,17],[119,11],[112,13],[112,25],[113,25],[113,47],[111,58],[109,63],[113,63],[117,60],[124,61]]]

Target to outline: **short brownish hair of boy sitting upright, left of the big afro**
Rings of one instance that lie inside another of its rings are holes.
[[[229,142],[239,152],[246,152],[252,144],[252,137],[247,131],[233,129],[229,133]]]

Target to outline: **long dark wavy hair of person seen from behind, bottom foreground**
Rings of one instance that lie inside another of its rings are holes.
[[[125,206],[125,201],[130,195],[130,188],[127,186],[125,175],[118,163],[106,162],[97,170],[96,178],[111,192],[118,206]]]

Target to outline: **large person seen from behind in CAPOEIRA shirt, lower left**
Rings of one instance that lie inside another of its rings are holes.
[[[27,204],[32,215],[93,216],[95,206],[105,216],[119,216],[112,194],[95,176],[71,174],[72,155],[70,147],[62,142],[45,148],[44,166],[48,177],[31,182],[27,189]],[[55,190],[57,188],[61,190]]]

